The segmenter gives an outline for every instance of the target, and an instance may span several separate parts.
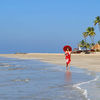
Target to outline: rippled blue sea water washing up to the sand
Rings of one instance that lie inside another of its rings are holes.
[[[100,73],[0,57],[0,100],[100,100]]]

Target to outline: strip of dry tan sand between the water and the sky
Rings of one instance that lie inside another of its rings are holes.
[[[20,59],[38,59],[43,62],[65,66],[65,56],[60,53],[0,54],[0,56]],[[71,66],[100,72],[100,53],[72,54],[71,59]]]

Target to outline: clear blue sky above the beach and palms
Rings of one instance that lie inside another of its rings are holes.
[[[64,45],[77,48],[87,27],[96,43],[99,10],[100,0],[0,0],[0,53],[63,53]]]

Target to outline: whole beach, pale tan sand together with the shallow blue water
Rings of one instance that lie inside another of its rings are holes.
[[[0,100],[99,100],[100,54],[0,54]],[[87,70],[88,69],[88,70]]]

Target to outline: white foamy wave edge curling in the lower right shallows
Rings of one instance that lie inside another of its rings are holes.
[[[79,89],[82,92],[82,94],[85,96],[85,98],[87,100],[90,100],[90,98],[88,98],[87,89],[82,89],[80,86],[84,85],[84,84],[89,84],[89,83],[94,82],[94,81],[97,81],[98,79],[99,79],[99,76],[96,76],[93,80],[89,80],[89,81],[86,81],[86,82],[81,82],[81,83],[78,83],[78,84],[74,84],[73,87]]]

